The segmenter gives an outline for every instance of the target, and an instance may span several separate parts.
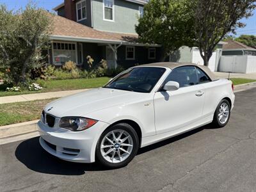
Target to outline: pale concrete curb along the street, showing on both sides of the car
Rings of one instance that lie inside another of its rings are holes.
[[[244,90],[250,90],[255,87],[256,82],[240,84],[234,87],[234,92],[243,92]],[[39,136],[36,128],[37,122],[38,120],[34,120],[0,127],[0,145]]]

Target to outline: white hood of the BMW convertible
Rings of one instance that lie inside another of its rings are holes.
[[[134,100],[136,92],[97,88],[54,100],[45,106],[44,111],[56,117],[85,116],[101,109],[125,104]]]

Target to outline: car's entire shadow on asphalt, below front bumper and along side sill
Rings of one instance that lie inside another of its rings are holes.
[[[193,131],[180,134],[168,140],[160,141],[156,144],[149,145],[147,147],[140,148],[138,155],[150,150],[154,150],[164,145],[168,145],[177,140],[184,139],[191,134],[200,132],[203,129],[214,129],[205,125]],[[15,150],[15,156],[17,159],[23,163],[30,170],[40,173],[49,173],[54,175],[83,175],[85,172],[95,172],[95,171],[106,171],[108,168],[104,168],[101,164],[98,163],[72,163],[68,161],[63,161],[58,159],[55,156],[47,153],[39,143],[39,138],[31,138],[26,141],[22,141]]]

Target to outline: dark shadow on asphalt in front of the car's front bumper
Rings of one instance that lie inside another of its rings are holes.
[[[40,146],[39,137],[22,141],[15,150],[17,159],[30,170],[54,175],[83,175],[87,171],[107,170],[97,163],[72,163],[47,153]]]

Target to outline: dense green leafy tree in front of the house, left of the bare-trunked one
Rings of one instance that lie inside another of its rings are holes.
[[[136,32],[145,44],[162,45],[161,61],[182,45],[193,44],[193,10],[189,0],[150,0]]]

